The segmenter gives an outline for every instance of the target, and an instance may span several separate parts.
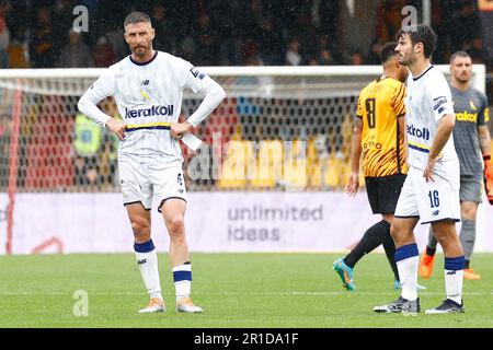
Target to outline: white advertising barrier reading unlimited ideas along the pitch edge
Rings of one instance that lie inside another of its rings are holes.
[[[0,194],[0,254],[7,202]],[[475,252],[493,252],[493,207],[480,208]],[[341,252],[379,220],[365,192],[190,192],[185,224],[192,252]],[[416,228],[420,250],[427,230]],[[167,252],[156,208],[152,231],[158,250]],[[13,254],[133,252],[119,194],[18,194],[12,235]]]

